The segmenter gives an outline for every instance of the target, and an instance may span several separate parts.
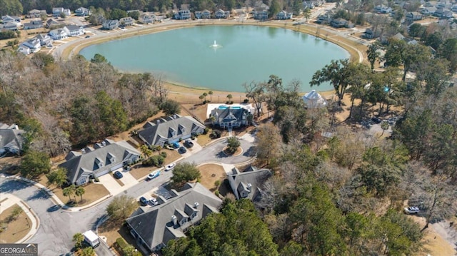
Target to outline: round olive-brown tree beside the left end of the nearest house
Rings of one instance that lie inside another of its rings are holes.
[[[122,222],[138,207],[134,198],[129,195],[116,196],[108,206],[106,214],[114,222]]]

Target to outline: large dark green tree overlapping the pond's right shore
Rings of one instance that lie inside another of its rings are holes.
[[[309,85],[319,86],[321,83],[330,81],[335,89],[336,96],[338,96],[338,105],[341,106],[341,101],[343,100],[344,93],[346,93],[346,88],[348,83],[346,77],[348,75],[348,66],[349,60],[332,60],[330,64],[323,67],[320,71],[316,71],[313,74],[313,78]]]

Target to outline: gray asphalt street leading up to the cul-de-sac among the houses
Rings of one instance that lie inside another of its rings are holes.
[[[226,146],[226,140],[222,139],[181,161],[194,163],[243,163],[252,158],[250,154],[246,153],[251,153],[252,151],[252,138],[241,139],[240,142],[243,153],[236,157],[229,158],[221,153],[221,150]],[[171,175],[172,172],[170,171],[162,171],[158,178],[149,181],[142,180],[134,187],[122,192],[121,195],[130,195],[134,198],[139,198],[153,188],[168,183]],[[46,193],[34,185],[23,183],[19,180],[0,178],[0,193],[12,193],[16,195],[29,204],[36,215],[38,215],[41,222],[39,230],[27,242],[38,243],[39,255],[43,256],[55,256],[69,252],[74,246],[74,242],[71,241],[73,235],[77,232],[95,230],[96,223],[105,215],[106,206],[114,198],[109,198],[87,210],[69,212],[58,208],[54,209],[54,203]],[[112,255],[104,245],[97,247],[96,252],[99,255]]]

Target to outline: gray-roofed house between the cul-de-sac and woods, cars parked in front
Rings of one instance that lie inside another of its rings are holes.
[[[205,126],[191,116],[173,115],[148,122],[138,135],[147,145],[165,145],[191,138],[204,132]]]

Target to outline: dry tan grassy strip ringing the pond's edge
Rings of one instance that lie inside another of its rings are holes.
[[[210,21],[210,22],[195,22],[195,21],[189,21],[188,23],[183,22],[183,23],[178,23],[178,24],[154,24],[154,25],[149,25],[149,27],[144,27],[144,28],[137,28],[134,29],[134,31],[117,31],[114,32],[115,34],[106,34],[103,36],[100,36],[99,38],[91,38],[91,39],[85,39],[84,41],[74,41],[71,43],[66,44],[61,52],[61,58],[63,59],[69,59],[72,56],[78,54],[83,48],[86,48],[88,46],[94,45],[94,44],[99,44],[99,43],[105,43],[108,41],[114,41],[114,40],[121,40],[121,39],[126,39],[132,36],[142,36],[146,34],[155,34],[163,31],[169,31],[169,30],[174,30],[174,29],[184,29],[184,28],[189,28],[189,27],[194,27],[194,26],[270,26],[270,27],[275,27],[275,28],[280,28],[280,29],[289,29],[293,31],[298,31],[301,33],[309,34],[311,36],[316,36],[320,39],[326,40],[331,43],[335,43],[336,45],[340,46],[341,48],[344,48],[346,51],[351,56],[351,61],[366,61],[366,58],[364,58],[364,51],[359,50],[358,48],[361,48],[362,46],[354,41],[348,40],[344,38],[343,36],[339,36],[336,33],[331,33],[331,31],[325,31],[325,33],[321,34],[320,28],[317,26],[311,26],[309,24],[302,24],[299,26],[293,26],[291,23],[273,23],[273,22],[242,22],[242,23],[236,23],[235,21]],[[201,93],[205,91],[214,91],[218,93],[231,93],[233,96],[238,97],[238,94],[241,92],[236,92],[236,91],[217,91],[213,90],[211,88],[201,88],[201,87],[191,87],[187,86],[186,84],[178,84],[178,83],[173,83],[170,81],[166,81],[166,86],[170,91],[170,94],[174,95],[175,98],[178,98],[177,95],[182,94],[183,90],[186,91],[185,93],[187,95],[193,95],[196,96],[197,101],[198,101],[198,96],[201,95]],[[318,88],[316,88],[316,91],[319,91]],[[326,96],[329,94],[333,93],[332,91],[320,91],[324,93]],[[241,93],[244,95],[244,93]]]

